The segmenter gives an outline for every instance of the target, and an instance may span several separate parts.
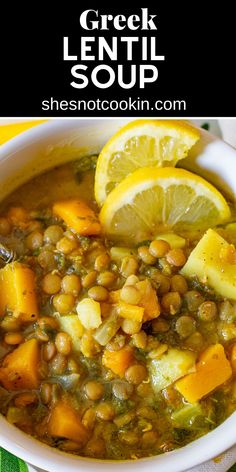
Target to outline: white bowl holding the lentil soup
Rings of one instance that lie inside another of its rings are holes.
[[[52,120],[17,136],[0,148],[0,199],[31,176],[86,152],[97,153],[127,120]],[[201,143],[182,163],[236,195],[236,152],[202,132]],[[182,165],[181,164],[181,165]],[[50,448],[10,425],[0,415],[0,445],[49,472],[182,472],[205,462],[236,443],[236,413],[211,433],[160,456],[111,462],[79,458]]]

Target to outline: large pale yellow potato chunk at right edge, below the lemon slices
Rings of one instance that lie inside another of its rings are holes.
[[[185,277],[197,276],[222,297],[236,300],[236,264],[221,257],[222,250],[228,246],[225,239],[209,229],[191,252],[181,273]]]

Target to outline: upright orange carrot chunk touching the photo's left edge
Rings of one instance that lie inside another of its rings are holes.
[[[35,274],[19,262],[0,270],[0,315],[6,308],[19,312],[24,322],[37,319]]]

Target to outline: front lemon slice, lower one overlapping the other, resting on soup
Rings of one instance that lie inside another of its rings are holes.
[[[206,229],[229,217],[229,206],[213,185],[173,167],[136,170],[108,195],[100,212],[104,233],[126,242],[170,228]]]

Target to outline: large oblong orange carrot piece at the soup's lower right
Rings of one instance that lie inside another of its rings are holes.
[[[232,375],[230,363],[221,344],[209,346],[196,364],[196,372],[175,384],[189,403],[194,403],[223,384]]]

